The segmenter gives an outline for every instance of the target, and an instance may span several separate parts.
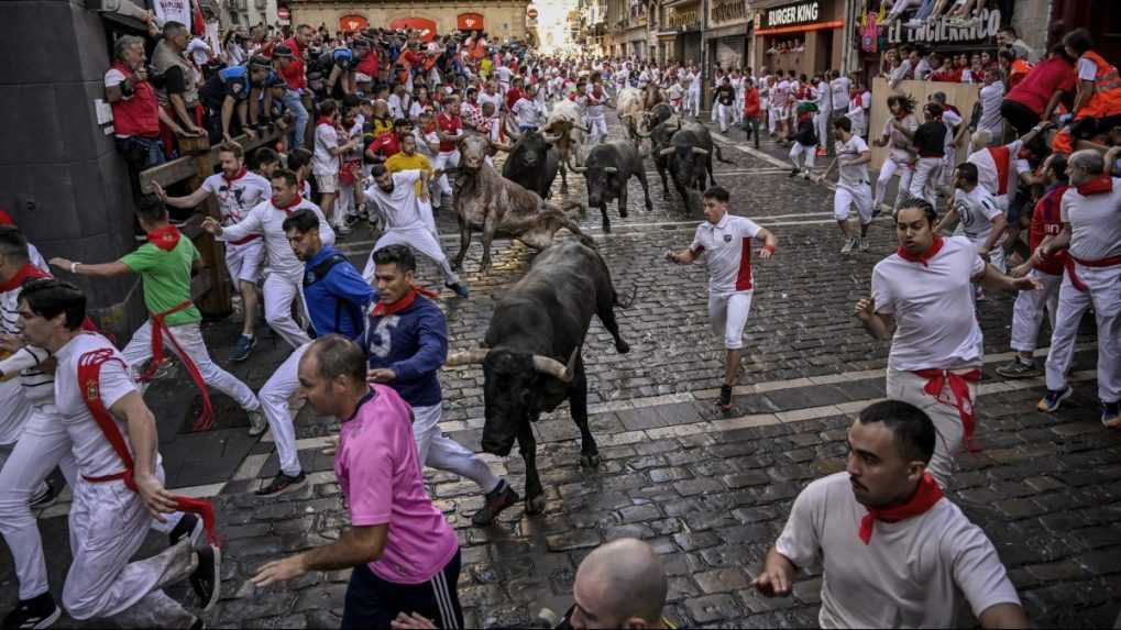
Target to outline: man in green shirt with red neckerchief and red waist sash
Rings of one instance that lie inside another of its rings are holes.
[[[163,346],[183,361],[192,380],[203,395],[203,416],[196,429],[211,426],[210,397],[206,385],[238,401],[249,415],[253,427],[266,426],[261,404],[249,386],[226,372],[211,359],[206,351],[198,323],[202,315],[191,302],[191,270],[198,260],[198,250],[191,239],[167,222],[167,209],[155,195],[146,195],[137,209],[140,226],[148,234],[148,242],[115,262],[85,265],[65,258],[53,258],[50,265],[81,276],[121,276],[140,274],[145,306],[149,319],[133,333],[132,340],[121,352],[133,373],[149,359],[151,367],[139,377],[147,380],[163,360]],[[156,332],[154,332],[154,330]]]

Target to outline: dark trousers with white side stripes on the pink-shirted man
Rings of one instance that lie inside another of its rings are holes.
[[[463,628],[458,581],[458,549],[443,571],[420,584],[388,582],[374,575],[369,565],[356,566],[346,587],[342,628],[389,628],[401,612],[420,613],[437,628]]]

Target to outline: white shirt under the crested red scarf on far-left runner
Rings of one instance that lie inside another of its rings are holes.
[[[101,427],[93,419],[93,414],[85,406],[85,389],[77,382],[78,360],[83,354],[106,349],[118,361],[108,361],[101,365],[100,396],[108,410],[129,393],[137,391],[132,377],[121,353],[105,337],[98,334],[80,334],[58,349],[55,358],[58,367],[55,370],[55,406],[58,417],[70,436],[71,451],[77,473],[84,476],[104,476],[124,470],[117,451],[101,433]],[[117,428],[121,432],[124,445],[132,452],[129,442],[128,427],[113,417]]]

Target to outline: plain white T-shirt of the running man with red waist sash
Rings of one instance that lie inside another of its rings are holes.
[[[876,312],[896,319],[889,368],[914,372],[981,365],[972,279],[984,270],[984,260],[964,237],[943,239],[942,249],[926,265],[904,260],[898,253],[876,265]]]

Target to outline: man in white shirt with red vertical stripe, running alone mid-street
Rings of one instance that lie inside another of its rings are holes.
[[[689,265],[707,252],[708,321],[713,333],[722,336],[728,354],[724,359],[724,385],[720,388],[720,406],[732,408],[732,388],[740,369],[743,349],[743,327],[751,311],[754,278],[751,272],[751,242],[763,241],[759,258],[767,260],[775,253],[778,239],[745,216],[735,216],[728,210],[728,191],[713,186],[704,192],[705,223],[697,225],[693,243],[678,251],[667,251],[666,260]]]

